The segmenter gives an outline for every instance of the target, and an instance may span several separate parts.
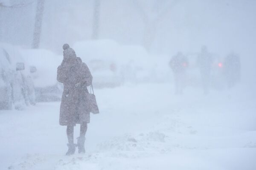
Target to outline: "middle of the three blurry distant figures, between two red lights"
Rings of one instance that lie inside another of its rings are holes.
[[[208,52],[206,46],[202,46],[201,53],[198,55],[197,64],[201,74],[201,82],[204,94],[209,93],[212,71],[212,55]]]

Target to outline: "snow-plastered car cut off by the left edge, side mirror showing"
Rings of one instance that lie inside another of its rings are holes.
[[[35,105],[35,89],[29,66],[18,49],[0,43],[0,109],[23,110]]]

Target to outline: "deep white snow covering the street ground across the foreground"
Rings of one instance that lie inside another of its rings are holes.
[[[256,169],[253,95],[172,91],[170,84],[96,90],[101,113],[91,115],[87,152],[73,156],[64,156],[59,102],[0,111],[0,170]]]

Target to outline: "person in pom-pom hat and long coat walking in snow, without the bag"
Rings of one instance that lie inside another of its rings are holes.
[[[78,147],[84,153],[85,133],[90,122],[87,86],[92,83],[92,75],[81,58],[68,44],[63,45],[63,61],[58,66],[57,80],[63,83],[64,91],[61,98],[60,125],[67,126],[68,151],[72,155]],[[80,124],[80,136],[74,144],[74,126]]]

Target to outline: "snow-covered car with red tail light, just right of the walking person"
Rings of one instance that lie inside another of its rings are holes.
[[[116,57],[119,46],[111,40],[93,40],[76,42],[73,46],[90,68],[95,88],[116,87],[122,84],[120,62]]]

